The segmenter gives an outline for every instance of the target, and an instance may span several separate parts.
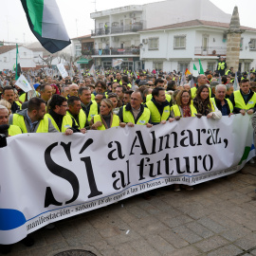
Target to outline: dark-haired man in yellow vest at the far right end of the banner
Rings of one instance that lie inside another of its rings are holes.
[[[234,91],[229,100],[234,106],[233,113],[241,113],[243,116],[252,115],[256,111],[256,93],[250,90],[249,81],[244,79],[241,81],[240,90]]]

